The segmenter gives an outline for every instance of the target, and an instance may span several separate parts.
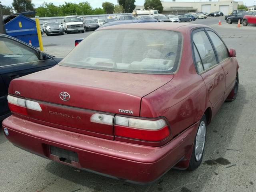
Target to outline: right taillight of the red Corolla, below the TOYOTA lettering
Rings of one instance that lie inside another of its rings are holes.
[[[163,118],[143,119],[96,113],[90,121],[114,125],[114,135],[123,138],[159,142],[170,136],[170,128]]]

